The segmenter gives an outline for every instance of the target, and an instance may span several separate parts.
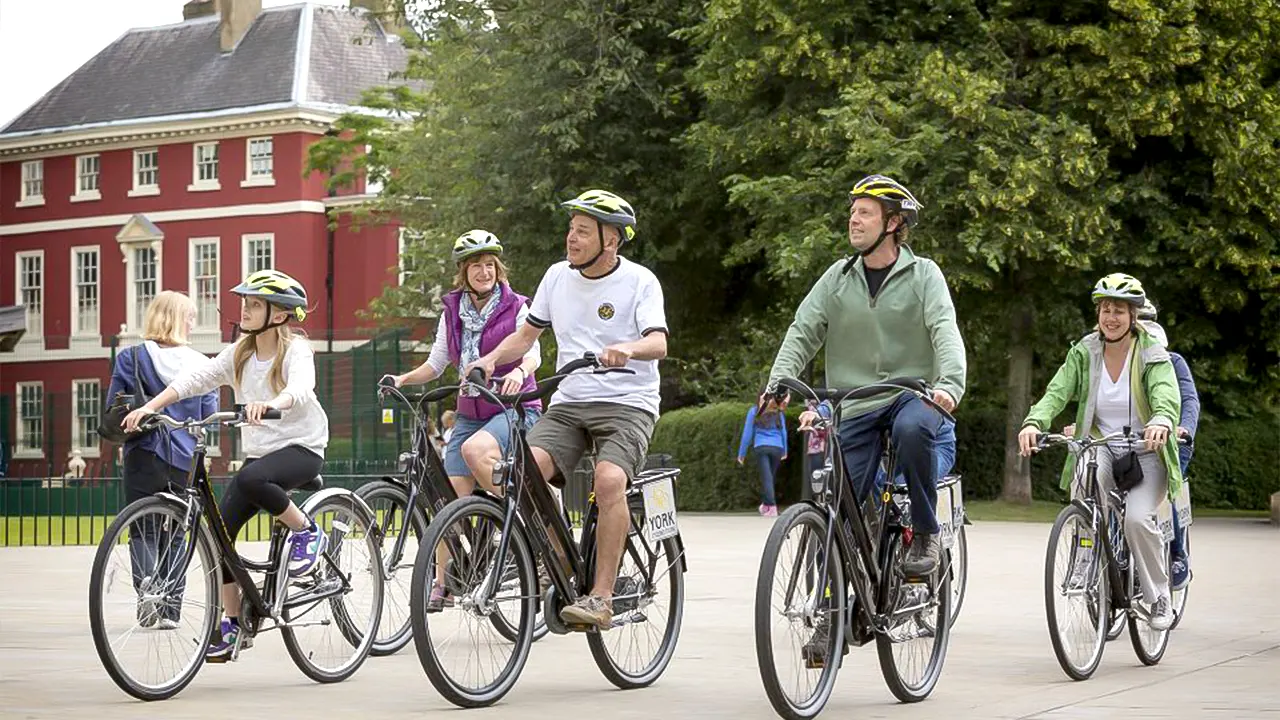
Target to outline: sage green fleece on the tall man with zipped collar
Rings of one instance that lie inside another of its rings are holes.
[[[850,388],[897,377],[923,378],[959,405],[965,388],[965,348],[942,270],[902,246],[874,299],[863,259],[845,273],[836,261],[796,310],[769,370],[769,383],[797,378],[826,345],[827,387]],[[852,418],[882,407],[899,393],[845,402]]]

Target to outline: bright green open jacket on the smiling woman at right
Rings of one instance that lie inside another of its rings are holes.
[[[1097,332],[1084,336],[1066,352],[1066,361],[1053,374],[1044,389],[1044,397],[1032,406],[1023,427],[1034,425],[1047,430],[1053,418],[1057,418],[1068,402],[1075,401],[1075,437],[1084,433],[1097,438],[1094,411],[1098,402],[1098,383],[1102,379],[1102,338]],[[1162,425],[1169,429],[1169,441],[1160,448],[1160,459],[1169,470],[1169,497],[1178,497],[1183,484],[1183,471],[1178,464],[1176,421],[1181,418],[1181,391],[1178,388],[1178,375],[1169,351],[1161,347],[1158,338],[1138,324],[1133,351],[1129,354],[1129,380],[1133,392],[1134,410],[1146,425]],[[1071,487],[1075,477],[1075,455],[1068,454],[1062,468],[1062,489]]]

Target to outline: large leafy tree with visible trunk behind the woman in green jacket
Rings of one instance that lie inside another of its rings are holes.
[[[712,0],[685,140],[749,219],[730,261],[764,255],[792,300],[847,252],[854,181],[916,192],[911,242],[952,284],[974,384],[1004,396],[1004,496],[1025,502],[1033,348],[1051,372],[1102,272],[1146,277],[1188,354],[1226,359],[1197,372],[1228,410],[1258,379],[1276,397],[1277,33],[1275,5],[1229,0]]]

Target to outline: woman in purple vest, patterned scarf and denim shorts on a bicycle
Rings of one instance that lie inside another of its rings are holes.
[[[507,284],[507,266],[502,264],[502,242],[492,232],[471,231],[453,243],[453,263],[458,274],[454,290],[443,297],[444,313],[435,329],[435,342],[426,361],[404,373],[392,375],[396,386],[426,383],[453,365],[458,370],[492,352],[507,336],[525,324],[529,299]],[[541,364],[541,350],[534,346],[516,363],[498,366],[495,379],[502,379],[502,393],[512,395],[534,389],[534,372]],[[541,415],[541,401],[525,404],[526,421],[532,425]],[[493,487],[493,464],[507,451],[515,413],[503,411],[480,397],[458,396],[453,434],[444,454],[444,470],[458,497],[471,495],[475,482],[485,489]],[[444,571],[444,562],[439,564]],[[443,583],[431,591],[428,611],[452,605]]]

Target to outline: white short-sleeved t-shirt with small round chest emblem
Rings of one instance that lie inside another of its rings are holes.
[[[611,345],[634,342],[650,332],[667,332],[662,284],[637,263],[618,258],[603,278],[585,278],[568,261],[552,265],[538,284],[529,323],[556,333],[556,366],[563,368],[584,352],[599,354]],[[658,416],[658,361],[631,360],[636,374],[575,374],[552,396],[557,402],[616,402]]]

